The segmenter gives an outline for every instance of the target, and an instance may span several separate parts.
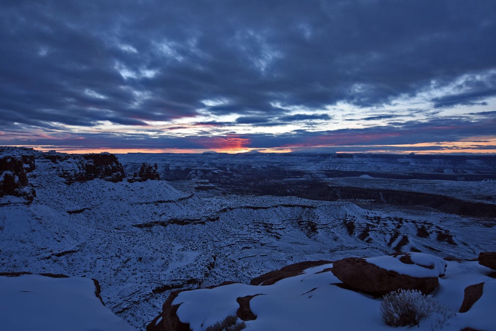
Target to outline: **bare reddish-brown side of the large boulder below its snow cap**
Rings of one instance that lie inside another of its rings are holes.
[[[413,277],[378,267],[365,259],[346,258],[334,262],[332,273],[352,289],[382,296],[398,289],[416,289],[429,294],[438,285],[437,277]]]

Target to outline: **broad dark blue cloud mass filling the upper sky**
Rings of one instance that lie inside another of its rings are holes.
[[[326,120],[274,105],[380,106],[460,76],[434,106],[481,104],[496,95],[495,12],[493,0],[3,1],[0,129],[145,126],[200,109]]]

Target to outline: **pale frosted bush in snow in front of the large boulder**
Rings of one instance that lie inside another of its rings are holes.
[[[437,315],[437,324],[442,324],[454,313],[432,295],[419,290],[397,290],[386,294],[380,305],[380,316],[392,327],[414,326],[431,314]]]

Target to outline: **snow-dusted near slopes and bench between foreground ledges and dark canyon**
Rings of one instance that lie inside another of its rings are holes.
[[[151,156],[136,156],[123,177],[129,167],[110,154],[2,153],[10,173],[0,188],[0,272],[95,278],[105,305],[141,330],[175,289],[248,283],[309,260],[401,251],[476,258],[496,240],[494,219],[429,208],[238,195],[211,183],[183,192],[163,180],[141,181]],[[147,177],[157,178],[150,167]]]

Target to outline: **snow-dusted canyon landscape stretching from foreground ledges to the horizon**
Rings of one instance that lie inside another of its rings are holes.
[[[0,272],[97,279],[140,330],[174,289],[311,260],[495,250],[496,156],[98,155],[0,147]],[[140,177],[143,163],[160,180]],[[362,191],[322,193],[333,186]],[[364,193],[384,189],[446,199]]]

